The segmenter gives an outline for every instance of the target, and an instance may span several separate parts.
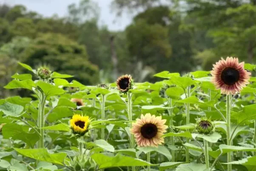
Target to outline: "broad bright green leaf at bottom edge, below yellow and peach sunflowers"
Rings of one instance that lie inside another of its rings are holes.
[[[105,156],[104,154],[97,153],[91,155],[91,158],[100,166],[99,168],[112,168],[112,167],[122,167],[122,166],[144,166],[153,165],[146,161],[135,159],[133,157],[123,156],[117,154],[114,157]]]

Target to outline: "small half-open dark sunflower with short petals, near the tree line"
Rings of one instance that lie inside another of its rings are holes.
[[[117,89],[123,93],[127,92],[133,87],[133,80],[131,75],[122,75],[116,81]]]

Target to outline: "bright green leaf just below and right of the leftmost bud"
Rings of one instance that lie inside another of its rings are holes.
[[[38,81],[37,86],[39,86],[43,90],[43,92],[46,94],[47,97],[56,96],[56,95],[65,93],[65,90],[63,90],[62,88],[58,88],[55,85],[51,85],[43,81]]]

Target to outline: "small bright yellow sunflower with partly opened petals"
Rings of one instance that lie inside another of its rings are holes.
[[[81,116],[78,114],[73,115],[70,120],[70,126],[74,134],[79,134],[80,136],[85,135],[88,132],[88,127],[90,125],[89,116]]]

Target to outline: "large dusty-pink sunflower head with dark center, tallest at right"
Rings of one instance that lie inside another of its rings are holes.
[[[239,63],[238,58],[222,58],[213,64],[212,82],[222,94],[235,94],[249,84],[250,72],[244,69],[244,62]]]

